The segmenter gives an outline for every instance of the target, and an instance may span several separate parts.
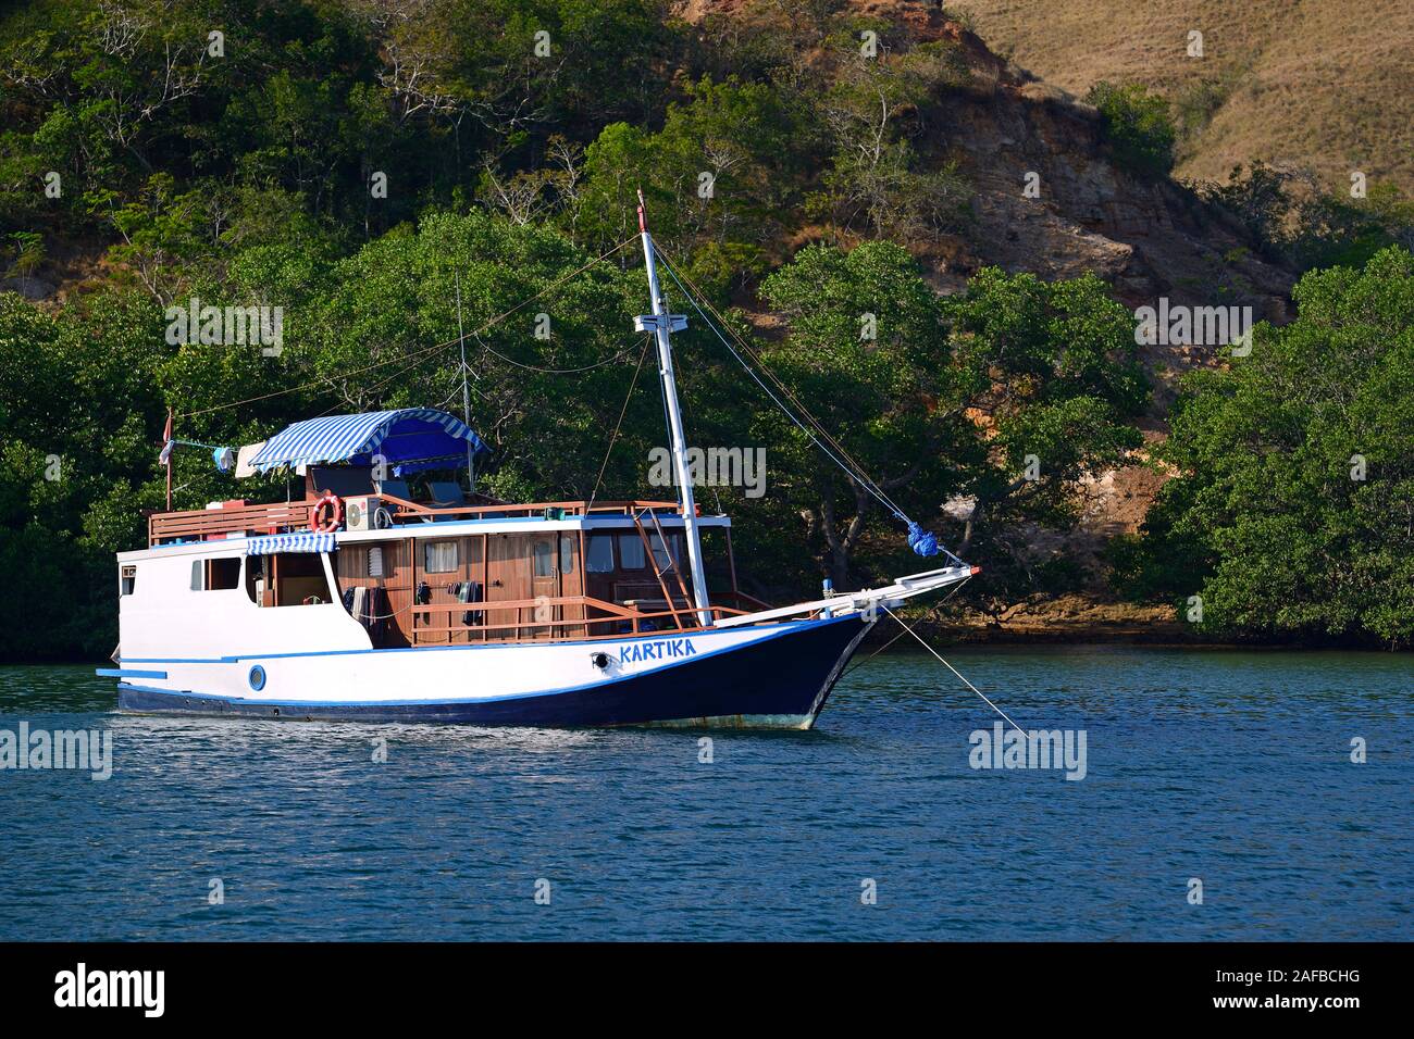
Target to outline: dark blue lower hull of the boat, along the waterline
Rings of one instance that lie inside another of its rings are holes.
[[[800,628],[700,660],[544,695],[441,703],[308,704],[119,684],[119,710],[301,721],[452,722],[539,728],[742,725],[809,728],[868,625],[858,616]]]

